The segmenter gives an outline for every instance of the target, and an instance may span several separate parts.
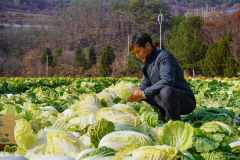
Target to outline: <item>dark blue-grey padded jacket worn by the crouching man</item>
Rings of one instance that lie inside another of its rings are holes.
[[[183,71],[175,57],[166,50],[154,48],[142,63],[142,83],[139,87],[147,98],[153,98],[164,86],[172,86],[194,98],[194,94],[184,79]]]

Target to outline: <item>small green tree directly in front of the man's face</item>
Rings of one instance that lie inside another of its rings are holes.
[[[133,52],[130,52],[129,56],[127,57],[126,71],[131,74],[136,73],[141,69],[140,65],[141,60],[138,59]]]

